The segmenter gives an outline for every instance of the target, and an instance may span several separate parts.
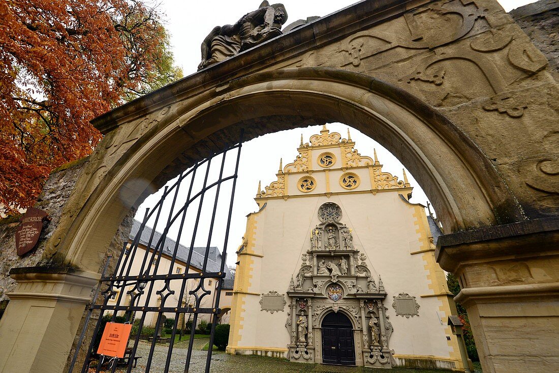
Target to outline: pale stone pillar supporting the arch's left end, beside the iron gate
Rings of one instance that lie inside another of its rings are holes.
[[[12,268],[17,281],[0,320],[0,371],[62,373],[98,273]]]

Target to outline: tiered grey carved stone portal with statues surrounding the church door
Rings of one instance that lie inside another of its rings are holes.
[[[391,367],[392,325],[382,305],[386,298],[382,280],[378,277],[377,286],[366,255],[353,244],[352,229],[340,222],[342,209],[327,202],[319,207],[318,216],[321,223],[311,230],[309,249],[301,255],[301,267],[287,292],[289,314],[295,315],[286,322],[290,359],[312,362],[321,356],[320,329],[314,330],[326,314],[342,312],[356,329],[356,361]]]

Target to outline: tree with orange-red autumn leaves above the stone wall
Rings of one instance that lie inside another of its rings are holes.
[[[52,169],[92,152],[91,119],[181,77],[145,3],[0,2],[0,212],[33,205]]]

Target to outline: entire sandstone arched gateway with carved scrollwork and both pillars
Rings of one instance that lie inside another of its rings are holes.
[[[145,196],[239,128],[329,121],[417,176],[484,371],[557,369],[557,83],[496,1],[363,1],[237,51],[93,121],[105,137],[41,244],[46,266],[11,271],[0,370],[64,370],[115,232]]]

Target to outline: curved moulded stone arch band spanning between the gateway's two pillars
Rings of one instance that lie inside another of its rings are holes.
[[[168,105],[169,97],[161,99]],[[146,100],[137,100],[122,112],[141,110],[148,105]],[[103,129],[122,118],[108,113],[94,123]],[[513,207],[518,206],[513,196],[480,148],[423,101],[358,73],[285,69],[248,75],[183,100],[118,159],[103,158],[96,150],[87,166],[89,172],[78,182],[81,191],[69,201],[84,205],[77,216],[68,217],[69,229],[60,235],[61,242],[53,251],[74,265],[97,271],[101,251],[130,207],[138,206],[146,195],[216,147],[235,142],[240,126],[248,140],[325,121],[354,126],[416,171],[449,232],[522,219],[518,207]],[[112,129],[126,130],[126,125]],[[108,171],[91,178],[97,169]],[[87,200],[80,202],[83,196]]]

